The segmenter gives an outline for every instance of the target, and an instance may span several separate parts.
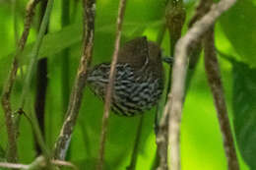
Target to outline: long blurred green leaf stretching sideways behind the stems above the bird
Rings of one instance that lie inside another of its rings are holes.
[[[130,36],[138,36],[142,34],[142,32],[147,27],[159,27],[162,25],[163,21],[155,21],[152,23],[125,23],[123,35]],[[97,32],[104,33],[114,33],[115,25],[107,25],[96,28]],[[52,56],[54,54],[59,53],[61,50],[72,46],[82,40],[82,25],[81,24],[73,24],[66,28],[62,28],[57,32],[48,33],[44,36],[41,48],[39,50],[39,58],[44,56]],[[22,54],[22,59],[26,58],[32,51],[32,46],[34,42],[28,44]],[[12,58],[14,52],[8,56],[0,58],[0,62],[7,62]]]

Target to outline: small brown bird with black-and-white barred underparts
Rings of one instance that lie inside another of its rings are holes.
[[[104,100],[110,63],[89,71],[87,83]],[[111,95],[111,110],[121,116],[135,116],[150,110],[160,100],[164,74],[160,46],[146,36],[126,42],[119,50]]]

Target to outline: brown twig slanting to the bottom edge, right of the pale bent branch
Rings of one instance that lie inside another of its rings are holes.
[[[214,28],[211,28],[204,38],[205,69],[209,85],[215,99],[218,118],[223,133],[224,151],[227,159],[228,170],[239,170],[239,164],[235,152],[234,140],[228,119],[226,104],[224,100],[224,87],[215,48]]]

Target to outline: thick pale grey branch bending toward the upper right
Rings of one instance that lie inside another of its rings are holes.
[[[197,41],[202,35],[211,28],[215,21],[235,3],[235,0],[222,0],[218,4],[212,6],[200,21],[194,24],[188,32],[178,40],[175,46],[175,60],[172,72],[171,98],[168,97],[168,102],[165,105],[169,115],[169,147],[170,147],[170,169],[180,169],[180,122],[183,108],[183,99],[185,94],[185,78],[187,70],[187,56],[193,42]],[[172,100],[171,102],[169,102]],[[168,105],[170,104],[170,105]]]

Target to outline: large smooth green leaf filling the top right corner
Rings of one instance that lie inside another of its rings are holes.
[[[256,66],[256,1],[240,0],[221,18],[221,26],[241,60]]]

